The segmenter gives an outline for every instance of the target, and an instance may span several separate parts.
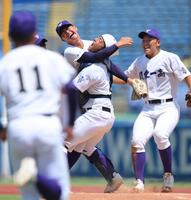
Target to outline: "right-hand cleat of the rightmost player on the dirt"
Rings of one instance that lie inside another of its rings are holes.
[[[174,177],[171,173],[166,172],[163,176],[163,186],[161,192],[172,192],[174,185]]]

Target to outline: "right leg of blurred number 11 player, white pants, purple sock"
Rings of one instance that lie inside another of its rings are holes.
[[[52,124],[51,120],[46,122],[46,133],[39,134],[36,141],[36,145],[41,147],[37,151],[41,175],[37,176],[37,186],[41,193],[44,191],[43,197],[47,200],[66,200],[70,192],[69,169],[66,154],[62,151],[61,125],[55,121]],[[46,179],[49,179],[47,184]]]

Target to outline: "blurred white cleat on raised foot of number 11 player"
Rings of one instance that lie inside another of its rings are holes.
[[[19,170],[14,174],[13,181],[19,187],[30,181],[34,181],[37,175],[37,167],[33,158],[22,159]]]

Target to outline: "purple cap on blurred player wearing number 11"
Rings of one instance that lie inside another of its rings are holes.
[[[36,31],[36,18],[28,11],[13,13],[9,21],[9,36],[23,37]]]

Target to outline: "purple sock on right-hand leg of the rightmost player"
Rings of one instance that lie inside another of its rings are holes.
[[[172,149],[171,146],[169,146],[166,149],[159,150],[160,157],[162,160],[162,164],[164,167],[164,172],[170,172],[172,173]]]

